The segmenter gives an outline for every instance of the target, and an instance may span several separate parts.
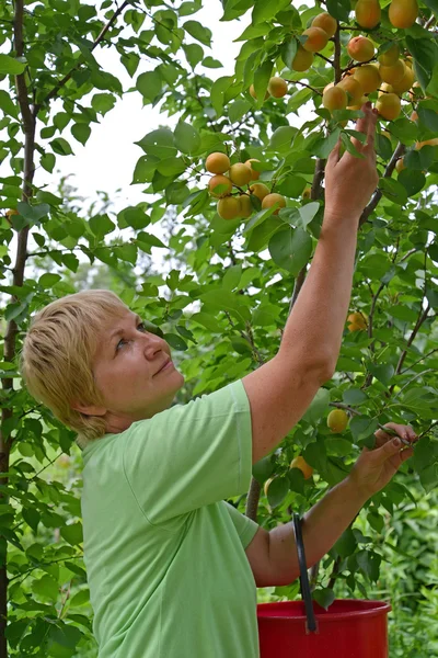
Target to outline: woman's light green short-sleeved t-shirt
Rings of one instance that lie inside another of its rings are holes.
[[[250,405],[235,382],[83,452],[84,556],[100,658],[256,658]]]

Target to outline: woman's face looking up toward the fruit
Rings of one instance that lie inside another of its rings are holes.
[[[128,309],[103,327],[93,373],[103,398],[97,415],[106,416],[108,431],[123,431],[169,408],[184,384],[169,344]]]

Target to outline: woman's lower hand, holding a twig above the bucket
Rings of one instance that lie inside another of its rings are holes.
[[[389,422],[384,427],[394,430],[399,436],[410,443],[417,441],[417,435],[410,426]],[[348,476],[355,488],[367,498],[383,489],[403,462],[414,454],[412,447],[405,447],[401,440],[393,434],[378,430],[374,436],[376,447],[362,450]]]

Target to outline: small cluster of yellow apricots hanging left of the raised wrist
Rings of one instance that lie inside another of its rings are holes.
[[[214,175],[208,182],[208,190],[218,198],[218,215],[222,219],[250,217],[255,207],[252,197],[258,198],[262,209],[275,206],[274,215],[286,206],[281,194],[270,192],[264,183],[258,183],[260,171],[253,169],[254,158],[246,162],[231,164],[227,154],[210,154],[206,160],[206,169]],[[227,175],[226,175],[227,174]]]

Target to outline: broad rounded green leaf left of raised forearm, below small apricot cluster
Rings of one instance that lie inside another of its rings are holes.
[[[269,240],[269,253],[274,262],[293,276],[309,262],[312,239],[302,228],[286,228],[274,234]]]

